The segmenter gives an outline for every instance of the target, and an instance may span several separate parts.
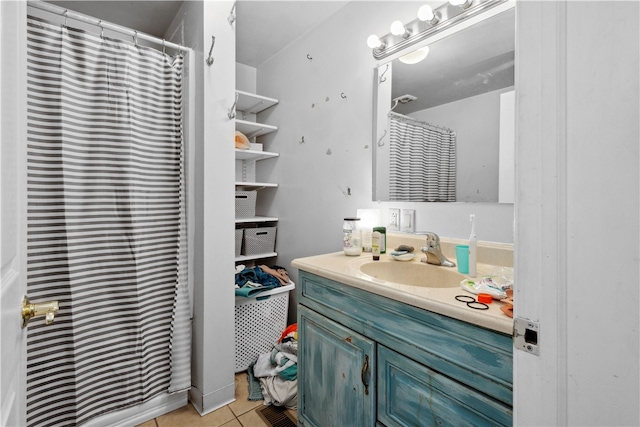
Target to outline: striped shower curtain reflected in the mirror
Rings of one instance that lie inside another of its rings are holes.
[[[389,113],[389,200],[455,202],[456,133]]]

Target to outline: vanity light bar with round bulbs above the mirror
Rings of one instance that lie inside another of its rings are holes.
[[[401,21],[394,21],[393,24],[391,24],[389,34],[382,37],[378,37],[375,34],[369,36],[367,46],[372,49],[375,59],[383,59],[496,6],[504,6],[504,8],[511,6],[510,4],[514,1],[515,0],[448,0],[435,10],[429,5],[423,5],[418,9],[418,17],[416,19],[408,24],[403,24]],[[450,7],[452,5],[454,7]],[[504,10],[504,8],[496,7],[494,10]],[[423,55],[422,59],[426,57],[424,51],[416,53],[416,56],[418,55]],[[409,57],[411,54],[404,56]]]

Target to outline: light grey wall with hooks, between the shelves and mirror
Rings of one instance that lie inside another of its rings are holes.
[[[258,92],[280,100],[260,117],[279,127],[262,142],[280,157],[263,161],[258,177],[280,187],[261,190],[258,203],[280,218],[278,263],[294,281],[291,260],[341,250],[342,220],[358,208],[380,208],[382,218],[390,207],[416,209],[417,230],[456,238],[469,237],[475,213],[480,240],[513,242],[513,205],[372,201],[377,64],[366,39],[387,33],[392,17],[414,19],[416,10],[415,2],[351,2],[258,67]]]

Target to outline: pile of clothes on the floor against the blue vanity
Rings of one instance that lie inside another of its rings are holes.
[[[298,408],[298,324],[288,326],[270,353],[258,356],[252,369],[265,405]]]

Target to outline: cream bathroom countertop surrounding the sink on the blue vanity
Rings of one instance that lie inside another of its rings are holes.
[[[412,261],[407,261],[406,263],[420,263],[421,255],[422,254],[418,252]],[[505,305],[502,302],[493,300],[493,302],[489,304],[488,310],[475,310],[455,299],[456,295],[475,297],[475,295],[463,290],[460,286],[433,288],[404,285],[375,279],[365,275],[359,269],[360,265],[368,261],[372,261],[371,253],[363,253],[360,256],[346,256],[344,252],[340,251],[298,258],[293,260],[292,266],[327,279],[353,286],[354,288],[362,289],[467,323],[509,335],[513,333],[513,319],[500,310],[500,307]],[[400,262],[392,260],[391,255],[388,253],[380,255],[380,262],[384,261]],[[488,274],[494,267],[495,266],[479,263],[478,276]]]

